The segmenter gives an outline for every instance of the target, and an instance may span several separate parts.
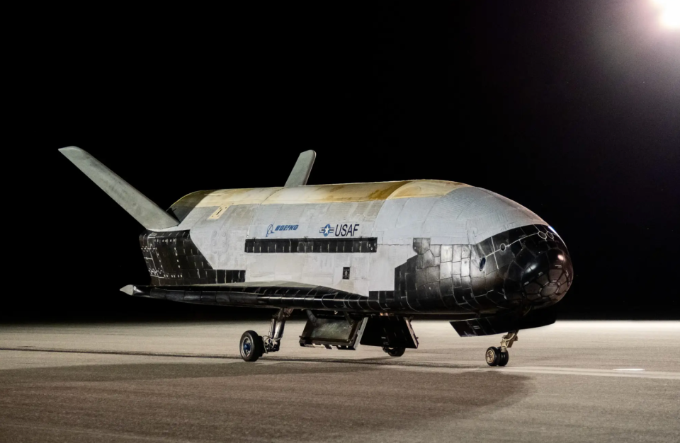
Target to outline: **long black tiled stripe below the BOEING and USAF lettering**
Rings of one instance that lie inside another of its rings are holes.
[[[247,238],[246,253],[372,253],[378,238]]]

